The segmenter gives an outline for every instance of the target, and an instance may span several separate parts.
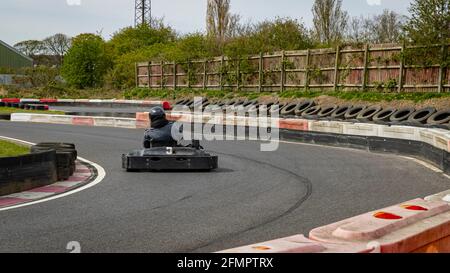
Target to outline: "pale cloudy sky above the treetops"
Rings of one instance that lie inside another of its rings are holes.
[[[312,25],[314,0],[231,0],[233,13],[244,22],[292,17]],[[350,16],[379,14],[391,9],[408,15],[412,0],[343,0]],[[152,13],[177,32],[205,30],[206,0],[153,0]],[[42,40],[55,33],[76,36],[101,33],[105,39],[134,23],[134,0],[1,0],[0,40],[14,45]]]

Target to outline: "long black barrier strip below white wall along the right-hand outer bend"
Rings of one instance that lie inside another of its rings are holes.
[[[450,174],[450,153],[428,143],[412,140],[340,135],[317,132],[280,130],[280,138],[288,141],[345,147],[370,152],[411,156],[425,160]]]

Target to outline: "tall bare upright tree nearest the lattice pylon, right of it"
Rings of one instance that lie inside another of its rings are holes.
[[[208,36],[222,45],[226,38],[233,37],[239,27],[240,16],[231,14],[230,0],[208,0],[206,26]]]

